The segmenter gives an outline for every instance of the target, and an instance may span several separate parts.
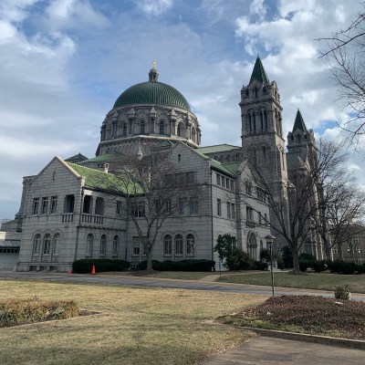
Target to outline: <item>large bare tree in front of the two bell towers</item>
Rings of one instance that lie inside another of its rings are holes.
[[[295,273],[300,271],[298,256],[303,245],[318,240],[317,229],[328,237],[328,204],[332,197],[329,189],[344,173],[342,163],[347,153],[342,144],[320,140],[313,157],[312,162],[304,162],[299,156],[292,159],[287,189],[282,192],[277,191],[276,183],[268,181],[257,163],[248,162],[256,190],[265,193],[270,208],[266,224],[291,248]],[[240,199],[255,210],[245,193],[241,193]]]

